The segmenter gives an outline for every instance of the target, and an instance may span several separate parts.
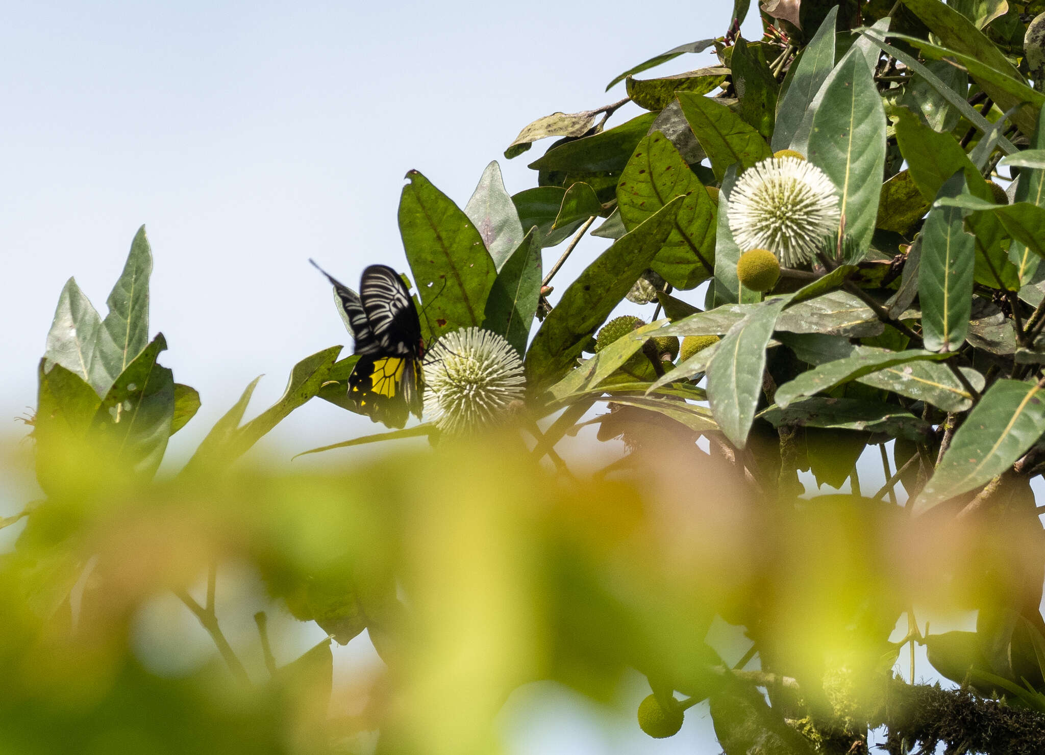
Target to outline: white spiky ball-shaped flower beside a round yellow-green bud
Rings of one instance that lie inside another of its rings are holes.
[[[741,252],[769,250],[788,267],[809,262],[838,230],[838,190],[818,167],[769,158],[737,180],[726,217]]]

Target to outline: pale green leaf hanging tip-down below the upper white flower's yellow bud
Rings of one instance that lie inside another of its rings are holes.
[[[747,432],[762,395],[766,347],[788,297],[753,305],[751,312],[729,328],[707,364],[707,400],[715,421],[738,448],[747,445]]]

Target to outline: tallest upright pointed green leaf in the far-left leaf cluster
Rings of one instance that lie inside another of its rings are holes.
[[[94,341],[95,370],[92,384],[99,395],[108,393],[135,357],[148,345],[148,277],[153,272],[153,253],[145,227],[131,242],[131,252],[116,285],[109,294],[109,313],[101,321]]]

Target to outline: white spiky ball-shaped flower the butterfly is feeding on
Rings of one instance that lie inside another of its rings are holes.
[[[496,424],[522,398],[522,360],[503,337],[482,328],[442,336],[424,361],[424,416],[447,434]]]

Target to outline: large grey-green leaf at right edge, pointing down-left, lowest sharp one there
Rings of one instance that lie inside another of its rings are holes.
[[[914,502],[915,513],[1001,474],[1045,432],[1045,401],[1035,383],[998,380],[954,433]]]

